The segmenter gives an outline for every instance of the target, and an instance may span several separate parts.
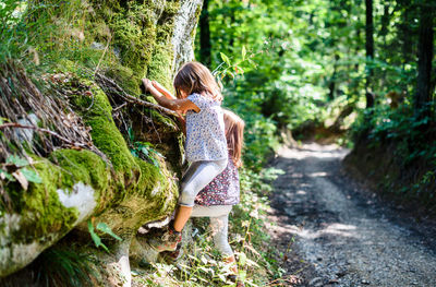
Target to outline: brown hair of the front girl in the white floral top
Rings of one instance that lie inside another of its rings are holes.
[[[222,100],[221,88],[217,81],[209,69],[199,62],[183,64],[174,77],[173,85],[178,98],[182,98],[180,91],[183,91],[187,95],[197,93],[217,101]]]

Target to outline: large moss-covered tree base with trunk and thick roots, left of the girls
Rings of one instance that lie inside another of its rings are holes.
[[[143,76],[171,88],[175,71],[193,59],[203,1],[82,2],[89,14],[82,45],[100,55],[102,61],[96,70],[126,93],[140,96]],[[57,75],[64,80],[50,80],[50,86],[62,92],[68,85],[70,106],[90,127],[92,144],[106,158],[95,151],[65,146],[46,155],[28,153],[43,183],[31,182],[27,191],[15,183],[5,186],[5,192],[20,192],[22,198],[11,208],[0,206],[0,278],[26,266],[73,228],[88,232],[87,222],[93,218],[94,225],[105,223],[122,238],[110,246],[112,255],[105,262],[120,272],[121,279],[114,284],[130,286],[130,246],[137,229],[168,217],[175,206],[182,134],[174,118],[153,108],[131,104],[118,108],[123,100],[101,84],[78,76],[77,64],[62,59]],[[40,93],[46,95],[46,91]],[[38,110],[32,112],[38,115]],[[126,122],[131,129],[125,129]],[[164,157],[147,162],[144,156],[133,156],[133,142],[140,140]],[[136,253],[138,248],[135,243]]]

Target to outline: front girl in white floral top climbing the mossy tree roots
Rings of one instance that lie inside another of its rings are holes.
[[[177,73],[173,82],[177,98],[157,82],[143,79],[143,83],[159,105],[186,111],[185,156],[191,165],[182,179],[179,206],[164,235],[148,241],[158,252],[173,251],[181,241],[195,196],[227,166],[222,95],[210,71],[198,62],[189,62]]]

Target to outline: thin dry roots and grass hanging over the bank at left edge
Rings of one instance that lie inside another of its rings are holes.
[[[47,82],[59,81],[52,75]],[[32,151],[47,156],[59,147],[87,148],[109,160],[93,145],[89,128],[70,107],[65,94],[41,93],[13,61],[0,65],[0,160]],[[15,129],[13,129],[15,128]]]

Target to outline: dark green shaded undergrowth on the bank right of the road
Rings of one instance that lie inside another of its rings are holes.
[[[434,110],[435,107],[429,107]],[[393,159],[398,175],[385,178],[379,187],[401,201],[420,201],[436,206],[436,124],[432,116],[415,115],[410,103],[398,108],[377,106],[362,111],[352,125],[354,142],[370,151],[384,151]],[[386,168],[380,166],[380,168]],[[371,171],[370,172],[374,172]]]

